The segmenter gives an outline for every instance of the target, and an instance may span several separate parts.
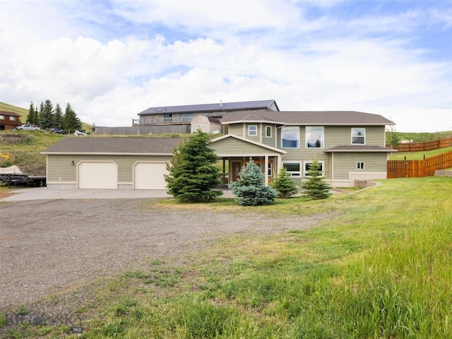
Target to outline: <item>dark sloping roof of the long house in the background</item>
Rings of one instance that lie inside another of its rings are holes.
[[[245,102],[217,102],[215,104],[201,104],[201,105],[182,105],[182,106],[162,106],[162,107],[149,107],[138,115],[153,115],[164,113],[182,113],[182,112],[221,112],[231,110],[242,109],[269,109],[274,104],[275,100],[258,100],[258,101],[245,101]],[[279,109],[278,109],[279,110]],[[275,112],[275,111],[272,111]]]

